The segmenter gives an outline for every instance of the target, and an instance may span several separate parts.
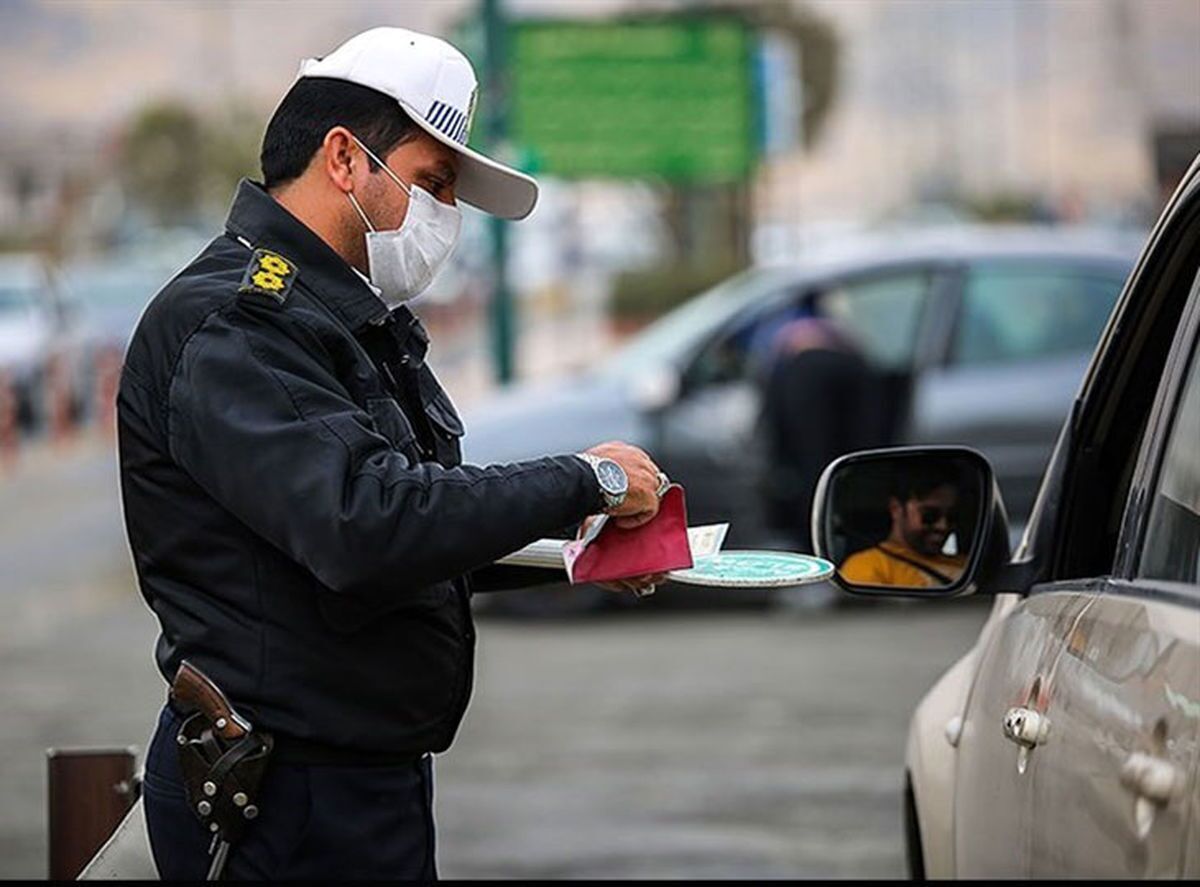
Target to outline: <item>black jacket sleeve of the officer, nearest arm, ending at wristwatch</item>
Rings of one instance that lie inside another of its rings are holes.
[[[599,510],[596,480],[574,456],[410,463],[331,362],[282,308],[218,311],[180,354],[167,438],[197,484],[334,592],[402,594]]]

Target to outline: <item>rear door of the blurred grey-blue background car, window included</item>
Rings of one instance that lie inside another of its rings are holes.
[[[961,270],[949,350],[916,385],[908,439],[986,455],[1014,525],[1028,516],[1124,277],[1116,265],[1064,259]]]

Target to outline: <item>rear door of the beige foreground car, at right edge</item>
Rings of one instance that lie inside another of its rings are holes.
[[[1200,807],[1198,328],[1200,277],[1141,444],[1124,553],[1090,595],[1051,685],[1033,876],[1200,875],[1188,838]]]

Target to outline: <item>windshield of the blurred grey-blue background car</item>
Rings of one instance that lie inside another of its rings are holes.
[[[600,372],[625,377],[664,364],[678,366],[714,329],[746,306],[769,298],[796,276],[794,271],[784,269],[750,269],[737,274],[634,336],[600,366]]]

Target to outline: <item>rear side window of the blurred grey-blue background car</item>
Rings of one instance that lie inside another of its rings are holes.
[[[973,268],[953,360],[971,366],[1090,354],[1123,282],[1115,274],[1063,265]]]

